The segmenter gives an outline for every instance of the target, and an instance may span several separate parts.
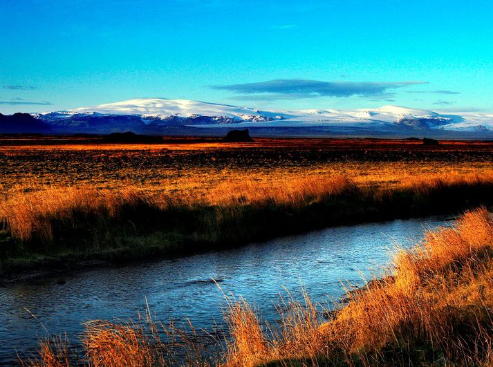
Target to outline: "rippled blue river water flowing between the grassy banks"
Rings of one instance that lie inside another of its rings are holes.
[[[161,321],[189,317],[196,328],[223,322],[223,291],[253,302],[264,320],[273,321],[283,288],[297,297],[303,286],[315,301],[330,301],[342,294],[341,280],[361,284],[362,275],[389,263],[397,244],[409,246],[425,229],[448,223],[450,218],[435,217],[335,227],[233,250],[89,270],[67,276],[63,285],[56,279],[8,285],[0,288],[0,364],[35,350],[46,330],[67,332],[77,341],[84,321],[136,317],[145,311],[146,297]]]

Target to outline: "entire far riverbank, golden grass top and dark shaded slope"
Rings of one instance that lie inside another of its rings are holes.
[[[450,214],[493,204],[493,176],[434,176],[362,185],[319,175],[207,196],[127,188],[47,189],[1,203],[0,274],[88,267],[234,247],[334,225]]]

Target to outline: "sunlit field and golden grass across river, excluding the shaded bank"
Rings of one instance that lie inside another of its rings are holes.
[[[159,208],[297,206],[355,187],[385,196],[396,189],[493,182],[485,156],[490,145],[448,142],[433,151],[392,140],[1,145],[0,231],[21,241],[32,234],[49,239],[48,217],[67,225],[73,225],[74,211],[113,218],[118,206],[139,200]]]

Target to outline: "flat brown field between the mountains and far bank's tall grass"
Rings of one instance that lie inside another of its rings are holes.
[[[493,168],[493,143],[413,140],[193,139],[163,144],[97,140],[0,139],[0,193],[54,187],[201,195],[245,179],[270,185],[314,175],[344,175],[361,184],[396,185],[431,175],[481,175]]]

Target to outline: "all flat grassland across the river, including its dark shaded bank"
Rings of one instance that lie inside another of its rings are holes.
[[[0,272],[183,254],[493,203],[493,144],[0,144]]]

